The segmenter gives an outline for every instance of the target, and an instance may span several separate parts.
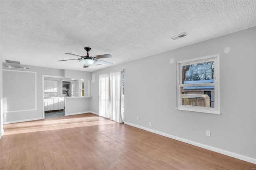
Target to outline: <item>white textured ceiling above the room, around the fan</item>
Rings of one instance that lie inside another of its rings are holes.
[[[117,65],[256,26],[255,0],[0,0],[0,51],[24,65],[83,68],[74,53]],[[171,37],[182,32],[184,38]],[[5,62],[5,61],[4,61]]]

